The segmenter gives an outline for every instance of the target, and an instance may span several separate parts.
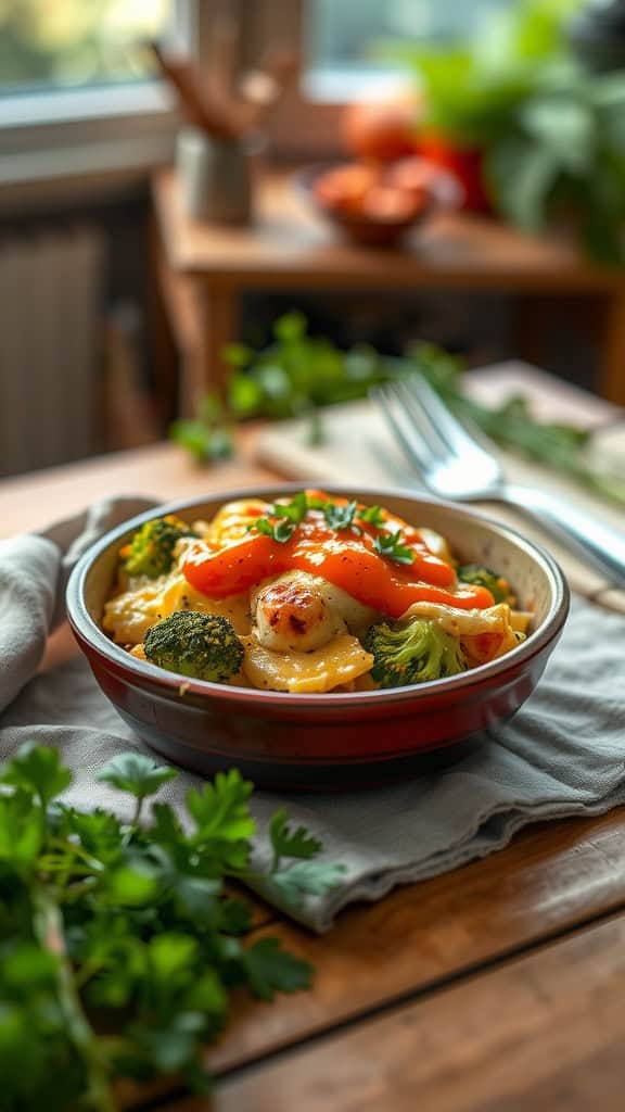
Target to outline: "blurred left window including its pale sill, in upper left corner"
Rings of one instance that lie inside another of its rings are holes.
[[[81,191],[167,160],[173,99],[149,38],[187,44],[192,0],[0,0],[0,201],[34,203],[49,182]],[[73,185],[72,185],[73,188]]]

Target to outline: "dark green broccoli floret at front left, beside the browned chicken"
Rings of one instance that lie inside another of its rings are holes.
[[[228,618],[177,610],[157,622],[143,639],[148,661],[168,672],[224,684],[239,671],[244,646]]]

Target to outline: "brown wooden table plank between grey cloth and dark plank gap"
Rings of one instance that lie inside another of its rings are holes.
[[[543,824],[485,861],[344,912],[321,937],[269,924],[261,933],[315,964],[315,985],[241,1006],[211,1068],[239,1068],[625,907],[624,844],[624,808]]]

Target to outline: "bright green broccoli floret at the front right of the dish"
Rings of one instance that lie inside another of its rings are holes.
[[[466,663],[458,641],[435,622],[383,622],[369,628],[365,648],[374,656],[371,677],[380,687],[403,687],[455,676]]]

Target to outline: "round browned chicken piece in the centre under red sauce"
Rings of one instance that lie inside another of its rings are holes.
[[[275,653],[309,653],[339,633],[367,628],[376,612],[308,572],[286,572],[251,594],[258,639]]]

